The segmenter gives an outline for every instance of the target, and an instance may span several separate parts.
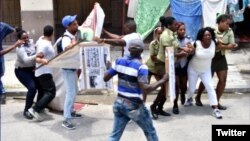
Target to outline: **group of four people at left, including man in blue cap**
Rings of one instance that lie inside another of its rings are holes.
[[[78,23],[76,15],[67,15],[62,19],[62,25],[66,28],[62,37],[62,49],[67,50],[77,43]],[[56,96],[56,85],[53,80],[53,69],[47,67],[49,60],[55,57],[56,49],[52,45],[54,28],[46,25],[43,28],[43,35],[33,42],[25,30],[13,28],[7,23],[1,22],[1,43],[5,36],[13,33],[17,42],[8,48],[2,48],[1,44],[1,76],[4,73],[3,55],[16,49],[17,59],[15,62],[15,75],[17,79],[27,88],[24,118],[43,121],[41,113]],[[2,34],[3,33],[3,34]],[[36,69],[39,68],[39,69]],[[62,69],[62,76],[66,88],[62,126],[67,129],[75,129],[72,118],[81,117],[73,108],[77,94],[77,70],[70,68]],[[0,81],[1,82],[1,81]],[[5,104],[5,91],[1,84],[1,104]],[[37,94],[37,95],[36,95]],[[34,103],[34,98],[36,102]]]

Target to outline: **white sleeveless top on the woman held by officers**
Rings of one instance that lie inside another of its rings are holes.
[[[196,41],[195,54],[190,60],[189,65],[191,65],[196,72],[206,72],[209,68],[211,68],[212,58],[214,55],[214,41],[211,42],[208,48],[204,48],[198,40]]]

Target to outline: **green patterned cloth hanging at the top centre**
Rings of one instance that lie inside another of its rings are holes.
[[[166,12],[170,0],[139,0],[135,16],[137,32],[145,39]]]

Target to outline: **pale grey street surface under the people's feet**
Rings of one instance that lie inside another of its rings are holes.
[[[87,97],[81,95],[88,101]],[[146,106],[152,103],[155,95],[149,95]],[[95,97],[92,97],[94,100]],[[106,99],[113,101],[113,96]],[[89,99],[90,100],[90,99]],[[207,95],[203,95],[203,107],[179,106],[180,114],[170,117],[160,116],[154,120],[160,141],[211,141],[212,125],[249,125],[250,124],[250,94],[223,95],[222,103],[227,106],[222,111],[223,119],[212,116]],[[1,105],[1,141],[105,141],[113,127],[111,103],[99,102],[98,105],[85,106],[79,113],[82,118],[74,119],[76,130],[67,130],[61,126],[61,113],[48,112],[44,114],[45,121],[35,122],[25,120],[22,116],[24,102],[8,97],[6,105]],[[167,112],[172,113],[172,103],[165,104]],[[122,135],[121,141],[145,141],[142,130],[130,122]]]

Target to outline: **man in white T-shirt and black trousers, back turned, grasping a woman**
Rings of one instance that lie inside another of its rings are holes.
[[[36,102],[36,104],[30,108],[29,113],[37,120],[42,121],[42,117],[39,113],[54,99],[56,95],[56,86],[53,81],[52,68],[47,67],[48,61],[55,56],[55,50],[52,46],[52,38],[54,29],[52,26],[47,25],[43,29],[44,36],[41,36],[37,43],[37,55],[36,55],[36,67],[43,65],[39,69],[35,70],[35,76],[38,79],[38,83],[42,88],[42,96]],[[42,54],[43,57],[40,57]]]

